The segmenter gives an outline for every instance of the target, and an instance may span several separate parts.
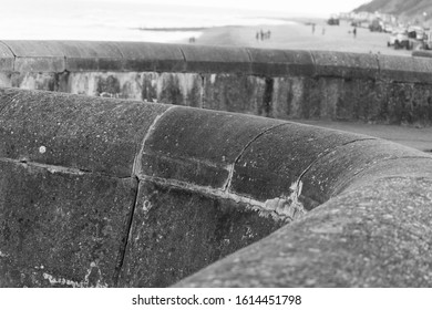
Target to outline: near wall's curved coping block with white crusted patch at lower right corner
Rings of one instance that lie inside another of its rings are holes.
[[[294,123],[275,127],[243,153],[234,167],[230,190],[258,200],[290,197],[295,193],[305,208],[311,209],[322,203],[301,190],[306,186],[302,176],[312,164],[337,147],[371,138]]]

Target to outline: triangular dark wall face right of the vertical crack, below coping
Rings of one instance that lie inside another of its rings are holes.
[[[173,285],[284,223],[232,199],[144,180],[119,285]]]

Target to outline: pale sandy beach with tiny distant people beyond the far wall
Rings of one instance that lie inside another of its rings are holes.
[[[315,33],[309,22],[316,23]],[[257,31],[271,31],[270,39],[257,40]],[[356,53],[381,53],[411,55],[412,51],[388,48],[389,33],[371,32],[353,28],[346,21],[340,25],[328,25],[325,20],[294,20],[282,25],[218,27],[204,30],[197,44],[254,46],[260,49],[331,50]],[[182,42],[186,43],[186,41]]]

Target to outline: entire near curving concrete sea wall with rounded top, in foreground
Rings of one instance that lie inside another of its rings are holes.
[[[378,138],[7,89],[0,172],[1,287],[432,285],[432,157]]]

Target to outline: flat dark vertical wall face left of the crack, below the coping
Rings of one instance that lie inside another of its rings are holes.
[[[112,287],[134,178],[0,159],[0,287]]]

